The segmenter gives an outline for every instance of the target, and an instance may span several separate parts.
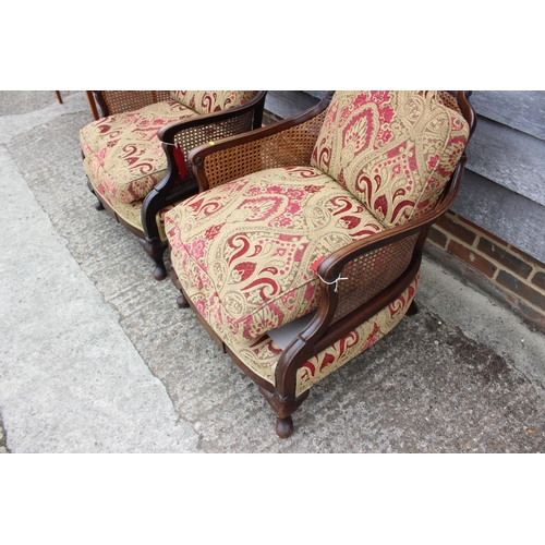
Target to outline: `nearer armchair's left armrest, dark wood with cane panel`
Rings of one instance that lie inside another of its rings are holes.
[[[332,92],[298,116],[193,149],[199,191],[268,168],[310,165],[331,97]]]

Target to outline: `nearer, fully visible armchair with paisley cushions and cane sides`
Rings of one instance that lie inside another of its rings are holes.
[[[474,126],[463,92],[337,92],[190,154],[201,192],[165,217],[178,302],[280,437],[313,385],[417,312],[422,247]]]

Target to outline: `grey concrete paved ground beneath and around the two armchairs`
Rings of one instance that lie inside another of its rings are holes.
[[[94,208],[83,92],[0,93],[0,451],[543,452],[545,336],[426,258],[387,338],[279,439],[257,388]]]

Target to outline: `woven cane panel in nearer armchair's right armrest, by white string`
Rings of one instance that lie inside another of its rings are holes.
[[[334,322],[374,298],[396,280],[409,266],[420,233],[379,247],[352,259],[339,280],[339,303]]]

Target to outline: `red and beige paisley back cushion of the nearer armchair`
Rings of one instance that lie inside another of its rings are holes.
[[[385,227],[429,211],[449,181],[469,125],[438,92],[337,92],[312,165],[335,178]]]

